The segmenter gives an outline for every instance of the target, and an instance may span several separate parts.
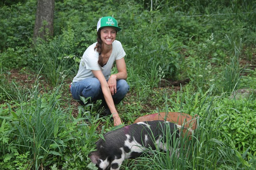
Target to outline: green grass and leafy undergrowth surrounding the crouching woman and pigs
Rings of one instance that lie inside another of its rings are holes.
[[[0,169],[95,169],[95,141],[119,127],[97,104],[77,107],[68,85],[98,18],[114,15],[127,53],[130,92],[117,105],[125,125],[156,112],[199,115],[192,140],[174,142],[179,158],[150,151],[121,170],[255,170],[256,94],[231,97],[256,89],[254,1],[55,1],[55,36],[37,43],[36,1],[15,2],[0,4]]]

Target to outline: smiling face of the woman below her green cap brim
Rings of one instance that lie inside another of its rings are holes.
[[[100,38],[105,45],[111,45],[116,36],[117,30],[114,27],[104,27],[100,30]]]

